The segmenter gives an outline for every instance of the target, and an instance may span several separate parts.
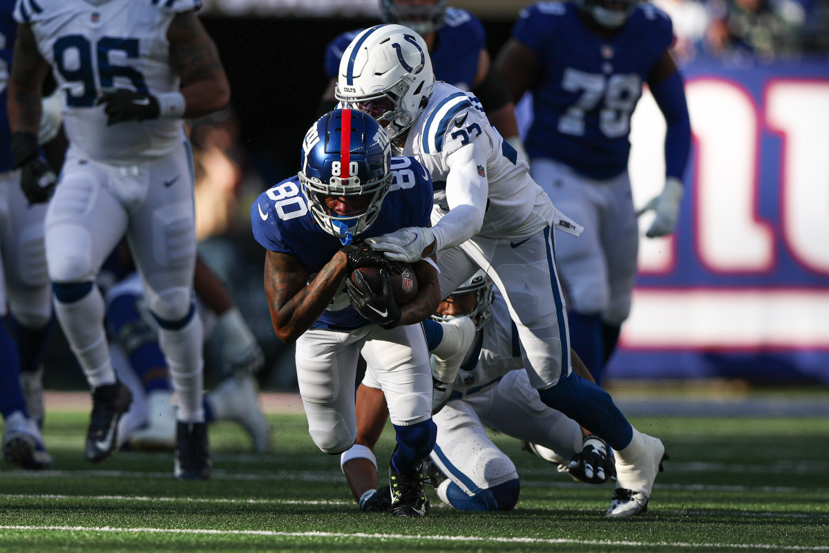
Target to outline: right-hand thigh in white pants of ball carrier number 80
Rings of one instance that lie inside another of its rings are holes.
[[[371,325],[362,348],[366,372],[380,384],[392,424],[410,426],[432,416],[432,370],[419,324],[384,330]]]

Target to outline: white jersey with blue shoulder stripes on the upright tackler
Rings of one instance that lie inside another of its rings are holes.
[[[530,177],[526,161],[489,124],[471,92],[435,83],[429,104],[412,124],[401,155],[417,158],[431,173],[438,190],[439,182],[445,182],[449,173],[448,156],[473,140],[489,143],[487,167],[478,167],[481,176],[486,171],[489,185],[487,210],[478,234],[516,238],[550,225],[555,213],[550,198]]]

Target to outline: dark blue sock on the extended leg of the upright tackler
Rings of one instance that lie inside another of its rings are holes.
[[[560,410],[617,451],[633,439],[633,426],[610,394],[574,372],[560,378],[555,386],[538,390],[538,395],[545,405]]]

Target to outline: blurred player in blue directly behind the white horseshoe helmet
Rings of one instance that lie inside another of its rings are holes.
[[[526,156],[518,135],[515,104],[501,76],[492,70],[486,30],[478,18],[466,10],[447,7],[446,0],[380,0],[380,5],[383,22],[398,23],[423,36],[435,79],[472,90],[487,109],[492,126]],[[335,107],[334,87],[342,52],[362,31],[344,32],[328,44],[324,67],[331,82],[322,95],[321,113]]]

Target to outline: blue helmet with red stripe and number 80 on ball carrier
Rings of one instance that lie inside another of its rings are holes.
[[[314,221],[351,244],[380,215],[394,177],[390,165],[389,138],[371,115],[356,109],[323,115],[305,134],[298,173]],[[346,211],[332,211],[327,197],[343,198]]]

